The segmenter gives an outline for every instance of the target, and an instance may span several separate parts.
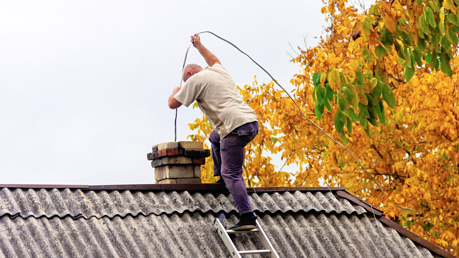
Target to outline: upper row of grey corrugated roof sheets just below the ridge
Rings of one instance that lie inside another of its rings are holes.
[[[284,191],[249,193],[256,212],[325,211],[358,213],[365,209],[338,196],[336,191]],[[232,196],[222,193],[189,191],[89,191],[80,189],[9,189],[0,190],[0,216],[22,218],[45,216],[74,218],[113,218],[117,215],[149,215],[201,211],[213,213],[236,211]]]

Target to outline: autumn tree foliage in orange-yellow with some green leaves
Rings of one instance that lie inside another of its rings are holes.
[[[303,112],[341,139],[401,210],[343,149],[329,140],[273,82],[241,88],[259,117],[244,175],[257,186],[347,186],[388,218],[453,255],[459,241],[459,1],[378,1],[358,14],[345,0],[326,3],[330,26],[292,62]],[[422,34],[422,35],[421,35]],[[346,127],[346,130],[344,129]],[[205,117],[190,129],[205,140]],[[296,174],[270,163],[281,153]],[[202,171],[213,181],[212,162]]]

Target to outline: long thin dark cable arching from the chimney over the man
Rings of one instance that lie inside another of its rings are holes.
[[[371,179],[373,179],[373,181],[375,181],[376,185],[378,185],[379,189],[382,191],[382,193],[384,193],[384,195],[386,196],[387,200],[389,200],[389,202],[391,202],[393,205],[395,205],[396,207],[398,208],[401,208],[403,210],[410,210],[410,211],[413,211],[413,209],[410,209],[410,208],[404,208],[404,207],[401,207],[401,206],[398,206],[397,204],[395,204],[395,202],[392,202],[392,200],[389,198],[389,196],[387,196],[386,192],[382,189],[381,185],[376,181],[376,179],[365,169],[365,167],[358,161],[358,159],[352,154],[351,151],[349,151],[346,146],[342,145],[341,143],[337,142],[335,139],[333,139],[330,135],[328,135],[327,133],[325,133],[325,131],[320,128],[317,124],[315,124],[313,121],[311,121],[311,119],[309,119],[304,113],[303,111],[301,110],[300,106],[298,106],[297,102],[292,98],[292,96],[284,89],[284,87],[282,87],[282,85],[280,85],[274,78],[273,76],[271,76],[270,73],[268,73],[268,71],[266,71],[261,65],[259,65],[257,62],[255,62],[255,60],[252,59],[252,57],[250,57],[249,55],[247,55],[246,53],[244,53],[244,51],[240,50],[236,45],[234,45],[233,43],[229,42],[228,40],[222,38],[222,37],[219,37],[217,34],[213,33],[213,32],[210,32],[210,31],[203,31],[203,32],[200,32],[196,35],[199,35],[201,33],[210,33],[210,34],[213,34],[215,37],[217,37],[218,39],[222,39],[226,42],[228,42],[229,44],[231,44],[232,46],[234,46],[237,50],[241,51],[242,54],[248,56],[250,58],[250,60],[252,60],[252,62],[254,62],[255,64],[257,64],[258,67],[260,67],[265,73],[267,73],[269,75],[269,77],[271,77],[271,79],[273,79],[273,81],[279,85],[279,87],[284,90],[284,92],[290,97],[291,101],[293,101],[293,103],[295,103],[295,106],[297,106],[298,110],[301,112],[301,114],[303,115],[304,118],[306,118],[310,123],[312,123],[315,127],[317,127],[317,129],[319,129],[324,135],[326,135],[328,138],[330,138],[330,140],[332,140],[333,142],[335,142],[337,145],[343,147],[347,152],[349,152],[349,154],[351,154],[351,156],[355,159],[355,161],[357,161],[357,163],[360,165],[360,167],[365,171],[365,173],[367,173],[369,175],[369,177]],[[183,77],[183,68],[185,67],[185,62],[186,62],[186,56],[188,55],[188,50],[190,50],[190,46],[191,44],[193,44],[193,42],[190,43],[190,45],[188,46],[188,49],[186,50],[186,53],[185,53],[185,60],[183,61],[183,67],[182,67],[182,77]],[[180,86],[182,86],[182,81],[180,81]],[[177,113],[176,113],[176,116],[177,116]],[[176,122],[175,122],[175,130],[177,130],[177,118],[176,118]],[[176,137],[177,137],[177,133],[176,133]],[[370,205],[371,206],[371,205]],[[373,208],[372,208],[373,209]]]

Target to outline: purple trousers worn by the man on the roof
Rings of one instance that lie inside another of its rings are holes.
[[[244,147],[257,136],[258,129],[258,122],[254,121],[237,127],[221,140],[215,129],[210,132],[209,137],[212,145],[213,176],[223,177],[241,215],[252,212],[246,184],[242,178]]]

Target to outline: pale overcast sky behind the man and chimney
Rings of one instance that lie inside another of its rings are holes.
[[[0,184],[154,183],[146,153],[174,140],[167,98],[179,85],[190,34],[209,30],[228,39],[289,90],[299,67],[289,62],[288,42],[304,47],[308,34],[308,46],[317,44],[322,6],[321,0],[2,1]],[[201,40],[237,85],[254,75],[269,82],[231,45],[211,34]],[[190,62],[206,66],[193,46]],[[186,140],[187,124],[201,112],[178,113],[177,138]]]

